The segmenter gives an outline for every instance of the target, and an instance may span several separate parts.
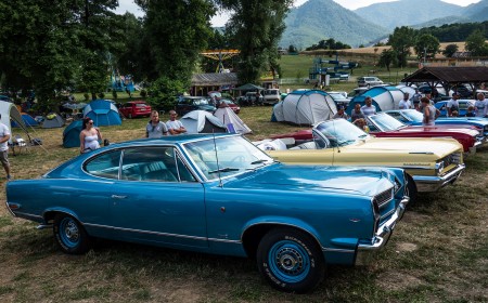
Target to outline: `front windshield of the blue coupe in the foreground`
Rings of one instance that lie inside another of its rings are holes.
[[[242,136],[191,142],[184,144],[184,148],[207,180],[235,175],[273,162]]]

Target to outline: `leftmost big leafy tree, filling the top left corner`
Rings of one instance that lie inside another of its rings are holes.
[[[60,92],[102,92],[116,0],[12,0],[0,3],[0,73],[5,85],[35,89],[39,110],[57,109]]]

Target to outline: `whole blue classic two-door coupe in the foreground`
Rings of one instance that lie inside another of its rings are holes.
[[[401,169],[285,166],[239,135],[181,135],[112,144],[9,182],[7,207],[53,228],[66,253],[98,237],[255,256],[273,287],[305,292],[326,264],[364,264],[386,245],[406,182]]]

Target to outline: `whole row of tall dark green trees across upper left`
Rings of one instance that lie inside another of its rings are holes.
[[[55,3],[54,3],[55,2]],[[137,18],[113,12],[117,0],[9,0],[0,2],[0,85],[35,90],[39,109],[48,110],[65,90],[107,89],[118,70],[151,83],[150,102],[169,106],[190,87],[208,48],[237,49],[240,82],[255,82],[264,71],[279,74],[278,41],[293,0],[136,0],[145,13]],[[226,30],[211,28],[219,11],[233,12]]]

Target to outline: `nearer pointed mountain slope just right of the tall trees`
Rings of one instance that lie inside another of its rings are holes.
[[[358,47],[370,44],[391,31],[332,0],[309,0],[299,8],[292,9],[285,24],[286,30],[280,42],[283,48],[293,44],[305,49],[329,38]]]

